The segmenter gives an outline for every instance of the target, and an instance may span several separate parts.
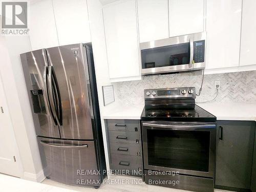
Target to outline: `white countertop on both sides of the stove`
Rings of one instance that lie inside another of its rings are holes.
[[[217,117],[217,120],[256,121],[256,103],[197,103],[201,108]],[[105,108],[103,119],[140,119],[144,105],[122,105],[114,103]]]

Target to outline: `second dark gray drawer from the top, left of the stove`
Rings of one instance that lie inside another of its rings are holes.
[[[109,141],[118,143],[140,143],[139,132],[108,131]]]

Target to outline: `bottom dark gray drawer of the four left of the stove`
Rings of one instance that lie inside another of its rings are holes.
[[[139,156],[111,154],[111,170],[115,174],[142,176],[142,162]]]

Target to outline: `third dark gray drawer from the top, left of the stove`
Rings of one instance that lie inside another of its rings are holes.
[[[127,143],[110,143],[110,151],[113,154],[141,156],[140,145]]]

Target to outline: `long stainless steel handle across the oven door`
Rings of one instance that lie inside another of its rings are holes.
[[[215,124],[158,124],[158,123],[142,123],[143,126],[167,128],[171,130],[197,130],[197,129],[212,129],[216,128]]]

